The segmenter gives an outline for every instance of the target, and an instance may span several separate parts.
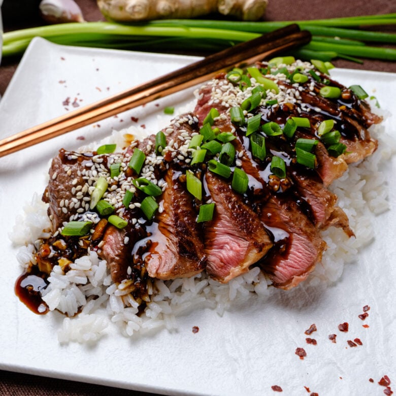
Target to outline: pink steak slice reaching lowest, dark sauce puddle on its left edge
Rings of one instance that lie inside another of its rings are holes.
[[[276,230],[275,236],[279,230],[283,231],[275,240],[274,248],[260,261],[260,267],[275,287],[288,290],[313,271],[326,244],[292,200],[273,196],[262,208],[260,218],[266,226]]]

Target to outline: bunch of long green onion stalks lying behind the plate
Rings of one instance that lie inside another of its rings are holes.
[[[366,43],[394,44],[396,34],[364,29],[396,24],[396,14],[317,19],[309,21],[235,22],[225,20],[170,19],[147,23],[83,22],[33,27],[6,32],[3,56],[21,55],[34,37],[56,44],[178,52],[212,53],[248,41],[290,23],[312,34],[308,45],[293,50],[302,59],[329,61],[336,57],[396,60],[396,49]],[[356,58],[358,57],[358,58]]]

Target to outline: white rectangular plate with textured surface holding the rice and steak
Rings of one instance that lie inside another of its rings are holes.
[[[0,102],[0,137],[72,110],[63,102],[70,97],[85,105],[196,60],[194,57],[64,47],[35,39]],[[396,75],[334,70],[345,85],[360,84],[375,94],[381,107],[391,112],[385,121],[396,136]],[[376,217],[375,241],[345,267],[341,279],[327,288],[298,287],[276,292],[266,304],[235,307],[219,317],[197,310],[178,318],[179,330],[126,339],[110,334],[95,346],[59,345],[56,329],[62,316],[38,316],[14,294],[20,274],[15,249],[9,241],[17,215],[32,195],[42,193],[49,160],[61,147],[70,150],[107,136],[111,128],[145,124],[156,133],[157,115],[164,106],[192,100],[192,89],[156,104],[131,110],[18,153],[0,158],[0,369],[106,384],[163,394],[383,394],[377,381],[384,375],[396,380],[396,161],[386,171],[390,210]],[[171,116],[169,116],[171,118]],[[78,137],[85,137],[84,141]],[[369,305],[370,316],[358,315]],[[349,323],[349,332],[338,324]],[[312,324],[307,345],[304,331]],[[369,324],[369,328],[362,327]],[[199,332],[192,333],[192,326]],[[336,333],[337,343],[328,340]],[[363,345],[349,348],[346,341],[360,338]],[[307,351],[300,360],[297,347]],[[374,383],[369,381],[374,379]]]

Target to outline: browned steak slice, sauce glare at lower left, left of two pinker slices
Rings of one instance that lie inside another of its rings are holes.
[[[196,222],[192,196],[180,181],[181,172],[170,169],[164,177],[167,189],[161,195],[163,210],[145,263],[151,277],[174,279],[200,273],[206,265],[204,243]]]

